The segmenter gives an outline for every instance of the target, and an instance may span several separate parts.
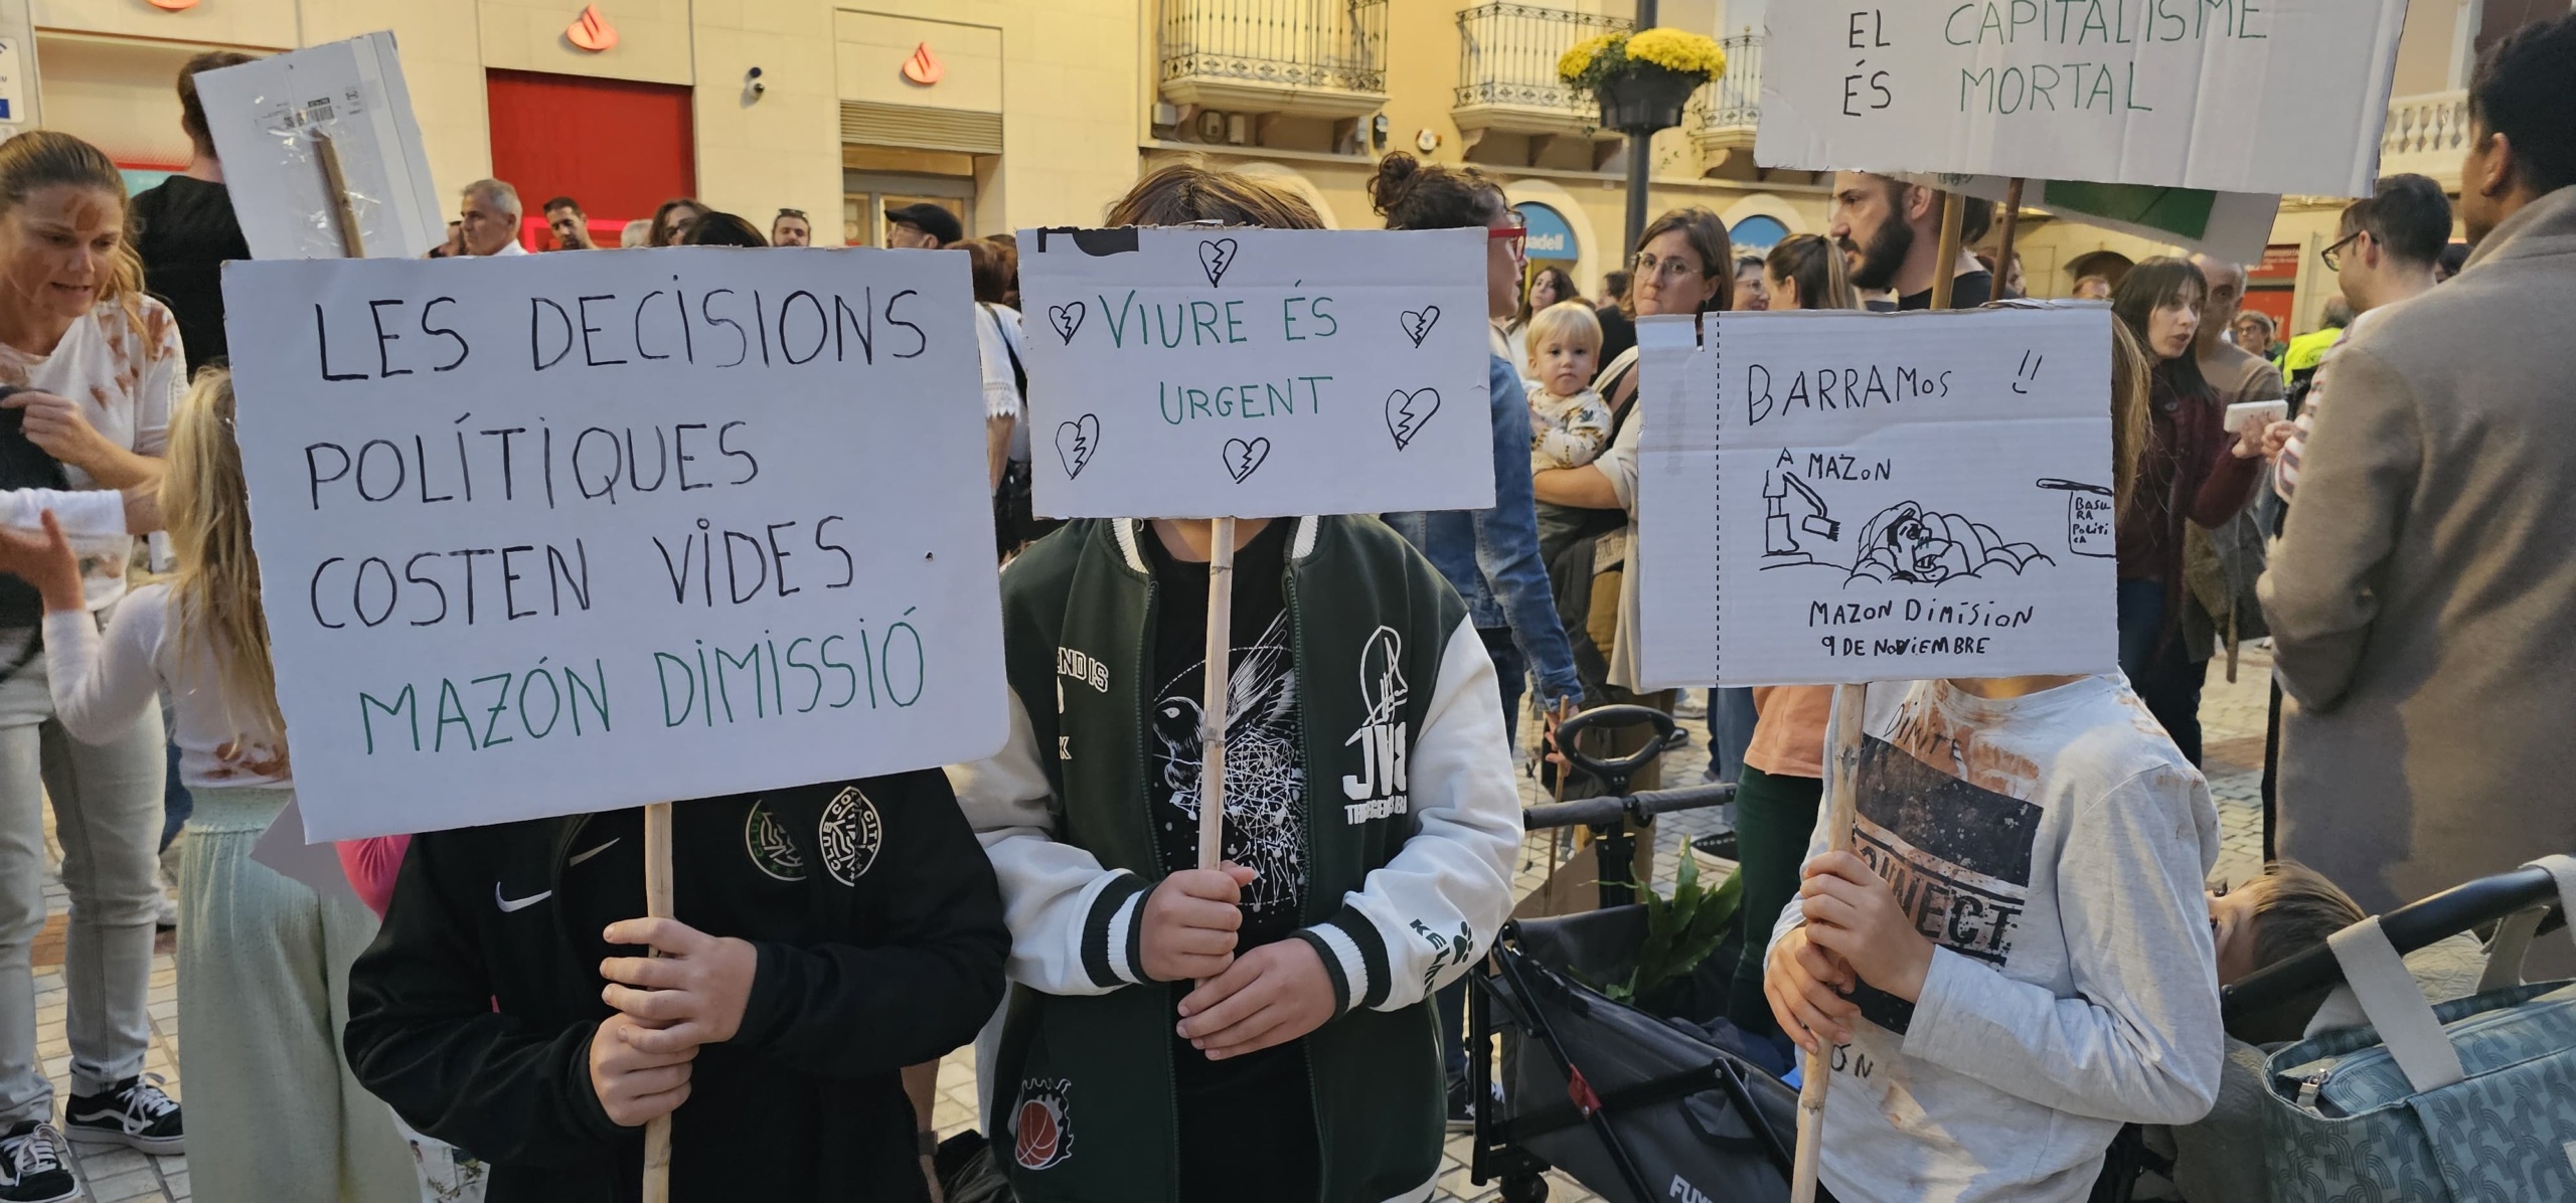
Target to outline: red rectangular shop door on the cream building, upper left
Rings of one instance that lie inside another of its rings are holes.
[[[690,90],[667,82],[587,75],[484,72],[492,103],[492,175],[526,206],[531,247],[541,247],[554,196],[582,201],[590,237],[618,245],[626,222],[652,216],[672,196],[698,191]]]

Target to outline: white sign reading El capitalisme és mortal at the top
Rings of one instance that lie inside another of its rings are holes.
[[[2370,196],[2406,0],[1770,8],[1765,167]]]

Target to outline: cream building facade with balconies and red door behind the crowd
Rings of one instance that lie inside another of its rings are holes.
[[[1641,149],[1654,211],[1708,206],[1744,250],[1829,216],[1826,180],[1752,162],[1762,3],[1659,5],[1656,23],[1723,39],[1728,75]],[[2411,3],[2383,170],[2458,188],[2476,46],[2545,10],[2563,3]],[[1404,149],[1499,178],[1533,263],[1595,294],[1625,260],[1638,149],[1553,67],[1631,23],[1633,0],[0,0],[0,106],[26,93],[21,111],[142,185],[188,160],[173,80],[191,54],[392,28],[440,191],[500,175],[528,209],[574,196],[603,240],[672,196],[760,227],[799,209],[850,245],[920,201],[969,232],[1084,224],[1177,155],[1365,227],[1376,160]],[[10,121],[26,116],[0,108]],[[2298,330],[2331,291],[2313,252],[2339,206],[2285,198],[2272,232],[2257,304]],[[2040,296],[2169,250],[2038,211],[2020,247]]]

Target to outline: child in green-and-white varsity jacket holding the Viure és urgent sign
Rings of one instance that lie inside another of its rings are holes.
[[[1319,227],[1193,165],[1108,214],[1188,222]],[[1023,987],[989,1131],[1028,1203],[1425,1198],[1430,994],[1520,842],[1492,659],[1378,520],[1236,520],[1226,866],[1195,868],[1208,559],[1206,520],[1092,518],[1002,572],[1010,744],[951,770]]]

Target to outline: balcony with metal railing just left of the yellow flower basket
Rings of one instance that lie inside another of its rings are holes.
[[[1628,28],[1628,18],[1540,5],[1461,10],[1450,118],[1471,142],[1484,131],[1618,139],[1615,129],[1600,129],[1600,100],[1556,77],[1556,59],[1582,39]]]

